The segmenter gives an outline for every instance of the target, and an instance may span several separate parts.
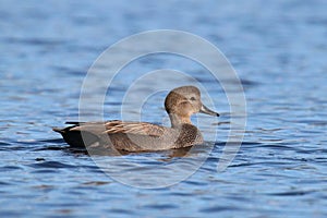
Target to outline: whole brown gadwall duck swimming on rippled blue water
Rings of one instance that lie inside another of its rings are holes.
[[[172,89],[165,100],[171,128],[148,122],[66,122],[64,129],[53,128],[72,147],[116,148],[125,152],[149,152],[190,147],[203,143],[199,130],[191,123],[196,112],[219,117],[201,101],[197,87]]]

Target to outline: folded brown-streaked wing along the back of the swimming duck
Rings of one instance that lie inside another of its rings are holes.
[[[69,131],[89,132],[95,135],[114,134],[137,134],[147,136],[161,136],[165,132],[164,126],[152,124],[148,122],[123,122],[119,120],[112,120],[107,122],[69,122],[74,124],[69,128]]]

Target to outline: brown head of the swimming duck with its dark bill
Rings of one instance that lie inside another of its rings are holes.
[[[219,117],[219,113],[202,104],[199,89],[195,86],[172,89],[166,97],[165,108],[170,116],[172,125],[191,123],[191,116],[197,112]]]

